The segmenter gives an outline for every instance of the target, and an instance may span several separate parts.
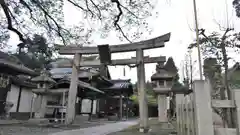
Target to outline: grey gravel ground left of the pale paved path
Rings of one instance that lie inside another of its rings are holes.
[[[99,125],[104,125],[107,121],[99,122],[85,122],[77,125],[71,125],[68,127],[49,127],[49,126],[37,126],[37,125],[24,125],[24,124],[14,124],[14,125],[0,125],[0,135],[48,135],[51,133],[61,132],[64,130],[80,129],[87,127],[94,127]]]

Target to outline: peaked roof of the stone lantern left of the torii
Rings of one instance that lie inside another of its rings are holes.
[[[44,70],[42,71],[40,76],[34,77],[31,79],[33,82],[36,83],[51,83],[51,84],[55,84],[56,81],[54,81],[51,77],[49,77],[49,75],[47,74],[47,72]]]

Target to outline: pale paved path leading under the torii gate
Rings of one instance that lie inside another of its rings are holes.
[[[90,128],[67,130],[53,133],[51,135],[107,135],[113,132],[121,131],[136,124],[138,124],[138,120],[124,121]]]

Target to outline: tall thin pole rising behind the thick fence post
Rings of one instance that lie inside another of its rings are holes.
[[[193,8],[194,8],[194,17],[195,17],[195,27],[196,27],[196,39],[197,39],[197,50],[198,50],[198,62],[199,62],[199,74],[200,80],[203,79],[202,77],[202,59],[201,59],[201,51],[199,46],[199,32],[198,32],[198,19],[197,19],[197,6],[196,0],[193,0]]]

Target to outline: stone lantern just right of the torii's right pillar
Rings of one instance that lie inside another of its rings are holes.
[[[164,63],[158,63],[156,67],[157,73],[153,74],[151,80],[155,82],[153,91],[157,94],[158,103],[158,120],[159,122],[167,122],[167,96],[171,92],[173,78],[175,73],[167,72],[164,69]]]

